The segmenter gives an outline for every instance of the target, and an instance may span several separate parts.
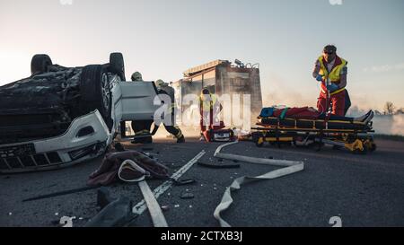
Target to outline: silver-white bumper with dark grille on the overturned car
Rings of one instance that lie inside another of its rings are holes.
[[[75,118],[57,137],[0,145],[0,173],[49,171],[72,166],[105,152],[113,137],[98,110]]]

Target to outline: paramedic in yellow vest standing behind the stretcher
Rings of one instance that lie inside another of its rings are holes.
[[[347,93],[347,60],[338,57],[337,48],[327,45],[321,57],[316,60],[312,76],[321,83],[317,109],[331,114],[345,116],[351,102]]]

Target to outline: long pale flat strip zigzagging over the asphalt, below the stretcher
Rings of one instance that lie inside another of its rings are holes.
[[[224,195],[222,197],[222,200],[218,206],[215,208],[214,216],[215,219],[219,221],[220,226],[222,227],[231,227],[231,225],[227,222],[224,221],[224,219],[220,216],[224,210],[229,208],[229,206],[232,205],[233,203],[233,198],[232,198],[232,191],[233,190],[238,190],[242,188],[243,184],[250,183],[252,181],[258,181],[258,180],[264,180],[264,179],[276,179],[279,177],[283,177],[288,174],[292,174],[297,171],[303,171],[304,169],[304,162],[298,162],[298,161],[288,161],[288,160],[275,160],[275,159],[262,159],[262,158],[256,158],[256,157],[250,157],[250,156],[243,156],[243,155],[237,155],[237,154],[232,154],[232,153],[221,153],[221,150],[229,145],[232,144],[237,144],[238,142],[232,142],[228,144],[222,144],[219,147],[217,147],[215,151],[215,157],[217,158],[223,158],[223,159],[228,159],[228,160],[237,160],[241,162],[249,162],[253,164],[265,164],[265,165],[272,165],[272,166],[282,166],[285,168],[278,169],[275,171],[269,171],[265,174],[259,175],[259,176],[242,176],[240,178],[234,179],[233,183],[230,185],[230,187],[226,188],[224,191]]]

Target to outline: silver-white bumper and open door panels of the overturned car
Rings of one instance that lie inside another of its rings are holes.
[[[105,153],[117,134],[120,122],[126,120],[153,120],[153,82],[122,82],[110,74],[112,96],[110,129],[96,109],[75,118],[61,136],[43,138],[17,144],[0,145],[0,172],[47,171],[84,162]]]

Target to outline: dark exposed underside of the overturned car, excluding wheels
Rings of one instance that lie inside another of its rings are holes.
[[[80,116],[75,108],[83,69],[51,69],[0,87],[0,144],[60,136]]]

